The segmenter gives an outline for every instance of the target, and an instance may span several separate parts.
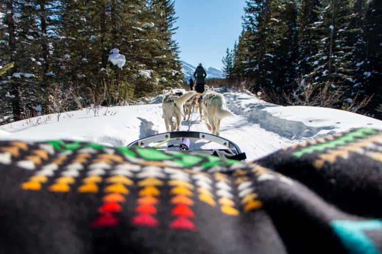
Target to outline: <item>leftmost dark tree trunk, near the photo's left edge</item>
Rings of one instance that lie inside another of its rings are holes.
[[[17,62],[17,51],[16,51],[16,34],[15,34],[15,21],[13,20],[13,15],[15,14],[13,11],[13,0],[9,0],[7,2],[8,9],[10,10],[10,14],[6,19],[8,25],[8,34],[9,34],[9,47],[11,49],[11,62],[14,63],[14,67],[12,68],[12,73],[17,72],[18,62]],[[17,79],[12,80],[12,95],[15,96],[12,100],[12,111],[13,111],[13,119],[18,121],[21,119],[20,113],[20,91],[18,89],[18,81]]]

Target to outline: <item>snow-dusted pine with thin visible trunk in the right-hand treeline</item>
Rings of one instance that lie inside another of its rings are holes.
[[[348,29],[353,2],[348,0],[322,0],[317,11],[320,20],[313,25],[319,33],[314,43],[318,52],[311,57],[313,66],[309,77],[320,84],[333,82],[344,89],[351,85],[352,47],[346,45],[346,38],[354,33]]]

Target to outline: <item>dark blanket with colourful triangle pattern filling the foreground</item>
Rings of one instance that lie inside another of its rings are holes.
[[[0,254],[381,253],[381,151],[372,129],[249,164],[0,141]]]

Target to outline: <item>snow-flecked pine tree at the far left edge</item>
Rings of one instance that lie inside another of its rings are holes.
[[[1,33],[4,36],[1,46],[1,65],[14,63],[8,70],[7,80],[3,80],[2,92],[6,92],[8,99],[2,105],[5,107],[4,117],[10,120],[22,119],[25,111],[34,111],[33,106],[41,104],[39,88],[41,76],[38,76],[36,55],[38,43],[35,39],[36,27],[35,6],[25,1],[9,0],[1,5]],[[3,75],[2,77],[4,77]],[[8,110],[12,107],[12,110]]]

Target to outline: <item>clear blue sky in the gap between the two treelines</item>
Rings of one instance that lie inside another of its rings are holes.
[[[227,48],[234,47],[242,27],[245,0],[176,0],[181,60],[197,66],[222,68]]]

